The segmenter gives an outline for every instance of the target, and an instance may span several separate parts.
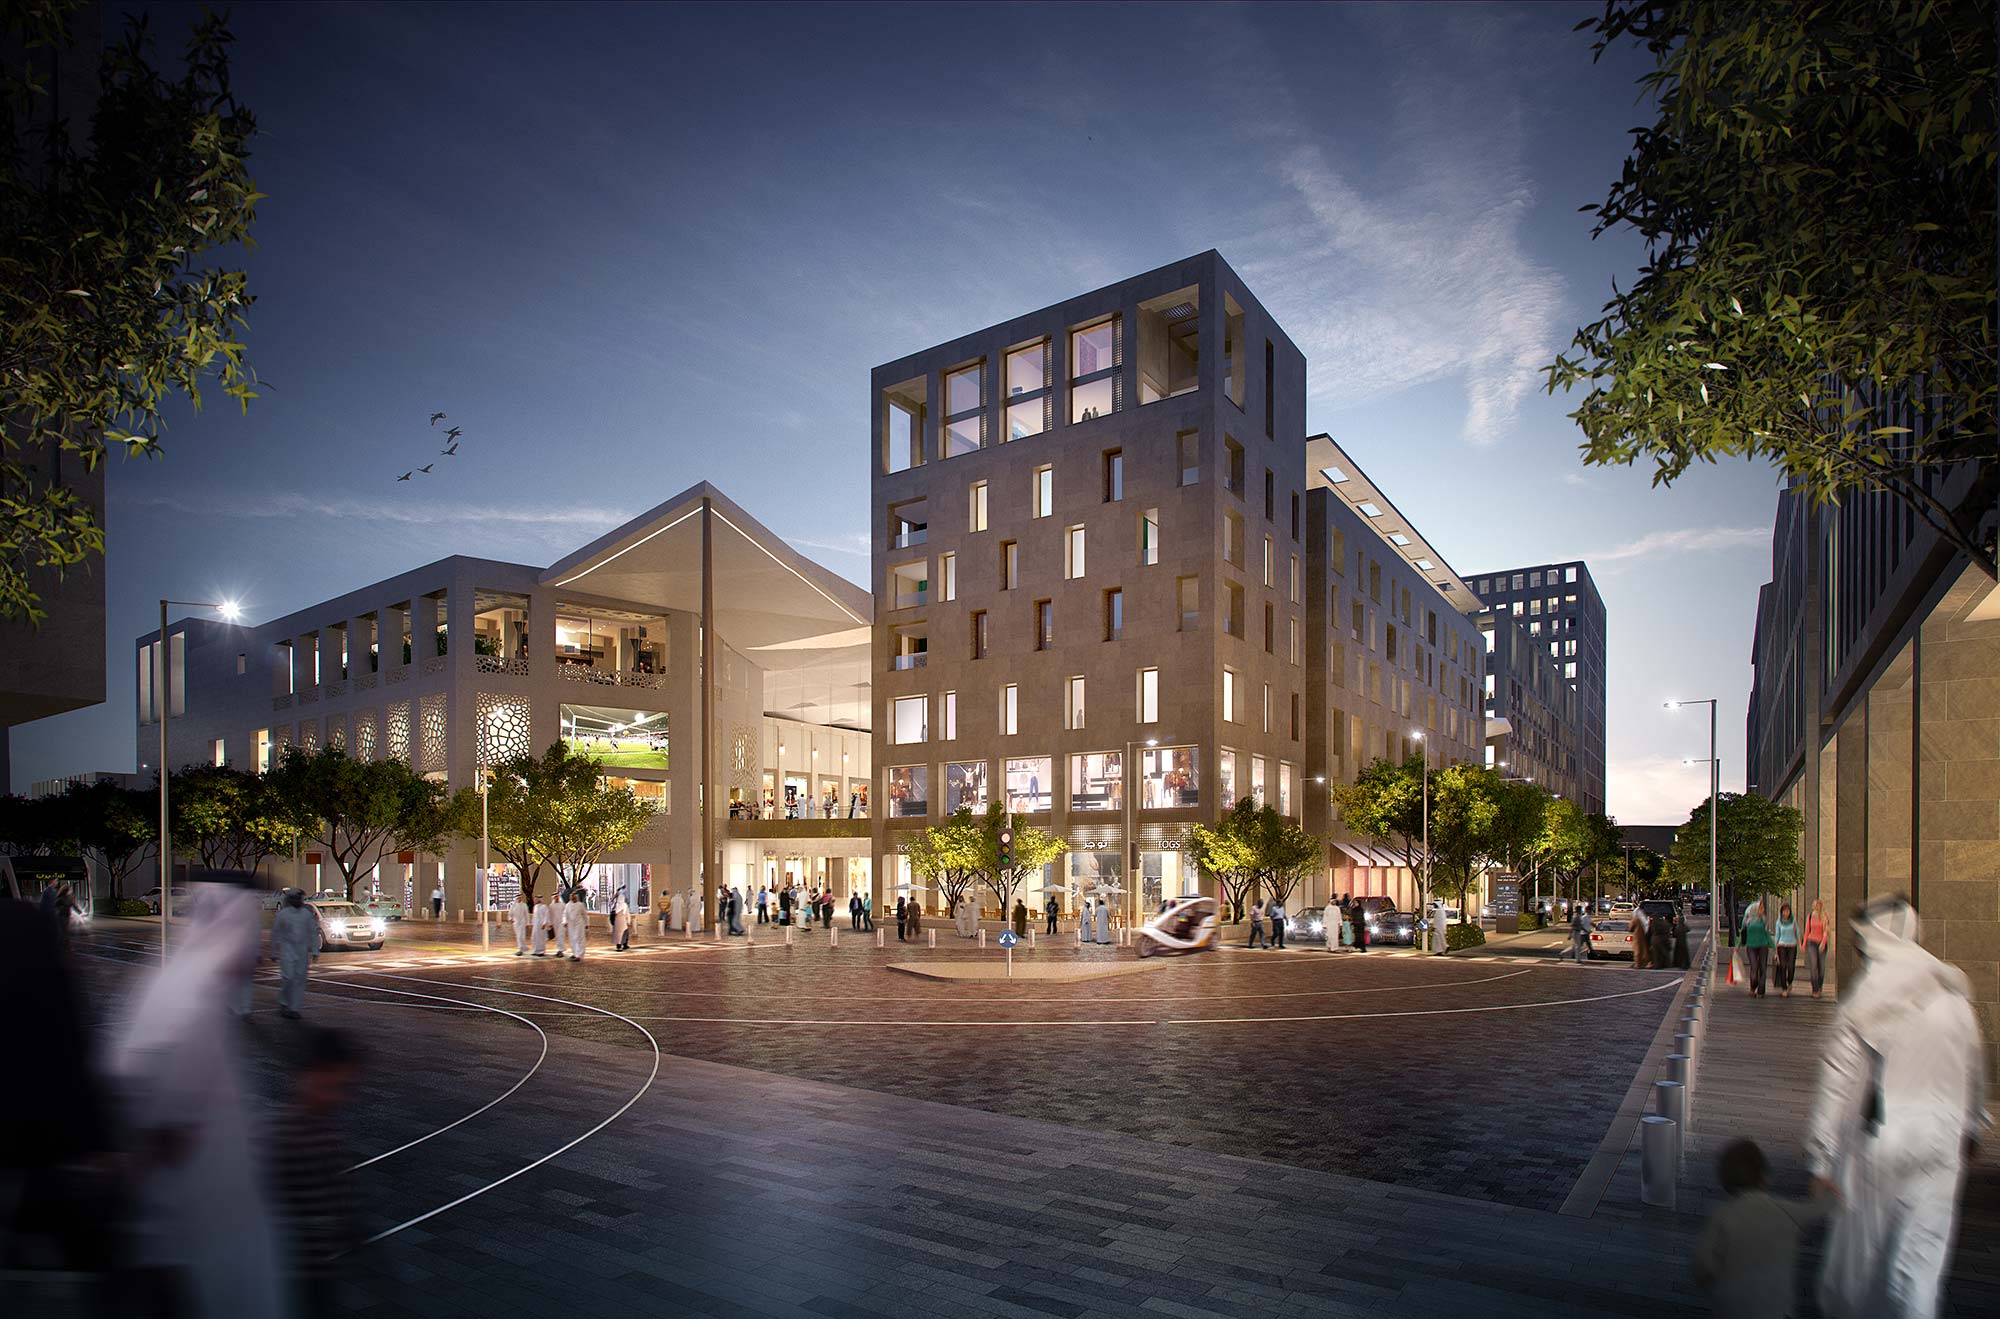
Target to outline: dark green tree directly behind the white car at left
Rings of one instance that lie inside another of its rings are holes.
[[[352,759],[340,747],[292,747],[266,775],[280,813],[326,849],[354,897],[362,875],[404,849],[436,851],[446,793],[400,759]]]

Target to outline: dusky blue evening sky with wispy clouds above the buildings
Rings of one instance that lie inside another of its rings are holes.
[[[176,34],[192,8],[158,6]],[[236,6],[260,206],[248,418],[110,472],[108,689],[14,785],[132,769],[160,596],[252,620],[448,554],[546,564],[706,478],[868,580],[868,370],[1218,248],[1336,436],[1462,574],[1586,558],[1610,809],[1742,783],[1772,476],[1584,470],[1538,368],[1636,264],[1590,242],[1632,54],[1540,6]],[[430,478],[434,410],[464,428]]]

